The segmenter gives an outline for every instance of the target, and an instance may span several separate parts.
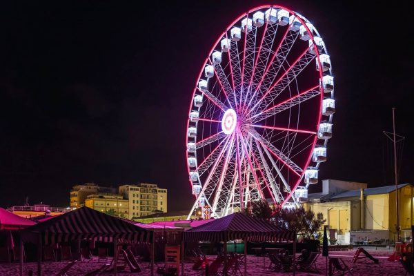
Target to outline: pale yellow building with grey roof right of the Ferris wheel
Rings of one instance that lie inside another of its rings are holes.
[[[400,228],[411,229],[414,186],[399,185],[397,193]],[[322,213],[329,228],[345,242],[352,242],[355,233],[378,233],[392,241],[397,236],[395,186],[366,188],[363,183],[328,179],[323,181],[322,193],[308,195],[304,208]]]

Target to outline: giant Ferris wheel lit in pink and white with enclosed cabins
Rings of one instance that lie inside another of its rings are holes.
[[[302,15],[260,6],[235,19],[208,53],[190,102],[188,217],[306,198],[332,137],[333,88],[325,43]]]

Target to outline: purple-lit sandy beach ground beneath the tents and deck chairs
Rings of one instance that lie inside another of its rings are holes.
[[[344,260],[344,262],[348,265],[348,267],[353,268],[352,273],[353,275],[387,275],[387,276],[399,276],[404,275],[405,270],[402,267],[400,262],[389,262],[387,257],[393,253],[393,250],[386,250],[386,249],[377,249],[375,248],[368,248],[367,251],[380,259],[379,264],[374,264],[370,259],[359,259],[356,264],[351,264],[351,259],[355,254],[355,249],[348,250],[348,251],[331,251],[330,257],[339,257]],[[214,259],[215,256],[211,256],[211,259]],[[110,259],[108,259],[110,262]],[[91,270],[97,269],[102,266],[105,261],[101,260],[100,262],[97,259],[93,259],[90,262],[78,262],[75,266],[68,271],[68,275],[75,276],[75,275],[85,275]],[[42,275],[45,276],[52,276],[57,275],[59,270],[68,264],[68,262],[48,262],[42,264]],[[292,272],[275,272],[274,270],[268,269],[270,264],[270,260],[267,257],[256,257],[253,255],[248,255],[248,263],[247,263],[247,275],[293,275]],[[163,266],[163,263],[155,264],[155,275],[157,275],[156,269],[157,266]],[[204,275],[203,270],[192,270],[193,263],[185,262],[184,263],[184,275]],[[304,276],[304,275],[325,275],[326,269],[326,258],[319,256],[317,259],[317,268],[319,273],[304,273],[301,271],[297,271],[296,275]],[[142,271],[140,273],[130,273],[129,268],[126,270],[121,271],[118,275],[128,276],[128,275],[150,275],[150,264],[142,262],[141,263]],[[23,275],[28,275],[29,270],[33,270],[33,275],[37,275],[35,273],[37,271],[37,263],[26,263],[24,264]],[[19,264],[0,264],[0,275],[2,276],[16,276],[19,275]],[[112,272],[102,273],[101,275],[114,275]]]

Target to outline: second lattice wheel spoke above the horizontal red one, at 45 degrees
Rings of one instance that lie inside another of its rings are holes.
[[[262,97],[259,102],[257,102],[257,105],[263,101],[260,104],[260,110],[264,110],[267,106],[269,106],[275,99],[286,89],[288,88],[289,84],[297,79],[299,74],[308,66],[309,63],[311,63],[315,59],[315,55],[310,54],[309,52],[305,52],[305,55],[303,55],[300,59],[297,59],[295,64],[293,66],[290,66],[286,72],[284,72],[284,75],[271,87],[269,88],[268,92],[266,92],[269,97]],[[256,106],[257,106],[256,105]]]

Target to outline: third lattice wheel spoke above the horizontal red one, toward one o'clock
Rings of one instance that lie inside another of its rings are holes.
[[[290,26],[291,25],[289,25],[288,28],[286,28],[282,36],[282,39],[280,40],[275,51],[273,52],[273,56],[270,58],[270,61],[268,61],[266,65],[266,69],[263,72],[262,78],[260,79],[259,83],[255,88],[256,97],[259,94],[261,94],[260,91],[267,91],[268,87],[271,85],[271,83],[273,83],[275,77],[279,73],[279,70],[282,69],[283,63],[284,61],[286,61],[286,57],[288,56],[290,49],[293,47],[293,44],[299,36],[298,32],[293,32],[290,30]],[[264,88],[262,88],[262,86]],[[248,106],[250,106],[252,101],[253,97],[250,98]]]

